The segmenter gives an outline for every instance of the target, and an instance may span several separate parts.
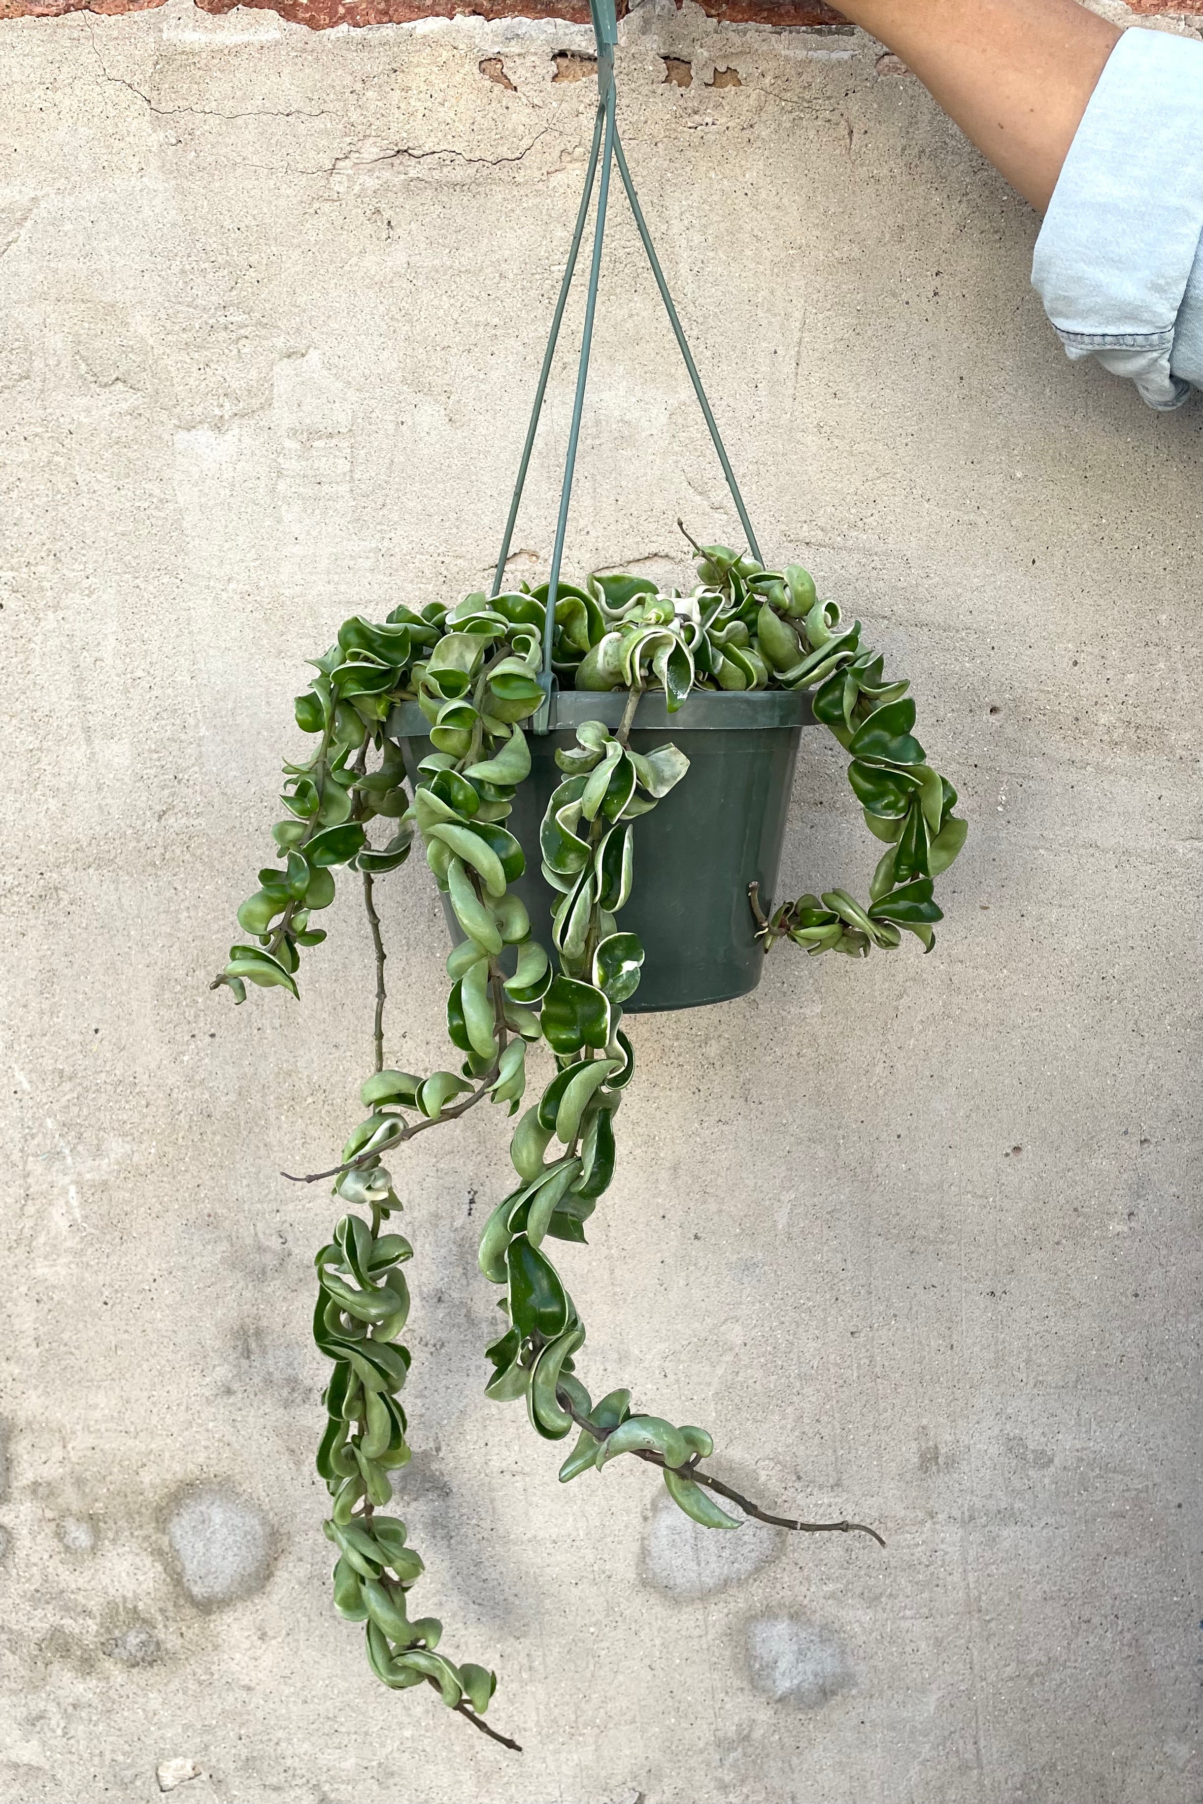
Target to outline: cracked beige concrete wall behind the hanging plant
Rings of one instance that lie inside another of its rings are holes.
[[[335,1210],[278,1171],[357,1118],[352,898],[301,1007],[207,980],[301,658],[491,566],[593,106],[552,56],[584,43],[186,0],[0,25],[0,1797],[141,1804],[195,1766],[188,1804],[1187,1804],[1199,413],[1064,363],[1033,216],[860,38],[647,7],[622,121],[765,548],[913,678],[972,837],[931,958],[786,947],[747,1001],[637,1023],[620,1178],[565,1270],[595,1389],[887,1551],[694,1541],[633,1463],[557,1486],[480,1394],[507,1158],[476,1113],[404,1160],[400,1512],[525,1755],[388,1696],[330,1611]],[[568,408],[565,363],[519,572]],[[734,530],[619,207],[572,566],[684,574],[678,512]],[[808,740],[792,893],[871,862]],[[384,916],[388,1054],[431,1068],[417,861]]]

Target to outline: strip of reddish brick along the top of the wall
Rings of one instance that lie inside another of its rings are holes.
[[[680,0],[678,0],[680,4]],[[0,0],[0,20],[58,18],[63,13],[144,13],[162,0]],[[234,5],[263,7],[296,20],[312,31],[332,25],[408,25],[418,18],[453,18],[474,13],[480,18],[565,18],[588,23],[588,0],[197,0],[206,13],[231,13]],[[732,25],[799,25],[813,29],[849,29],[840,13],[822,0],[702,0],[711,18]],[[1203,14],[1203,0],[1129,0],[1133,13]],[[619,16],[626,0],[619,0]]]

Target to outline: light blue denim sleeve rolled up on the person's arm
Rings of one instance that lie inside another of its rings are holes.
[[[1203,43],[1125,31],[1035,242],[1032,281],[1070,357],[1151,408],[1203,388]]]

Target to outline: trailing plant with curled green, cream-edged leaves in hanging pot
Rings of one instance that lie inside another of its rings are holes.
[[[747,1515],[806,1532],[862,1528],[768,1515],[705,1468],[712,1440],[703,1427],[633,1409],[629,1389],[593,1400],[577,1369],[584,1322],[552,1257],[556,1243],[584,1243],[613,1178],[615,1115],[635,1075],[622,1007],[638,987],[644,949],[620,925],[635,882],[633,823],[689,772],[671,743],[647,754],[631,749],[638,695],[664,689],[675,711],[693,689],[808,689],[813,714],[849,754],[851,788],[886,848],[868,897],[859,902],[833,888],[767,911],[752,895],[765,951],[788,938],[812,956],[868,956],[893,951],[904,933],[929,949],[941,918],[932,879],[965,842],[956,792],[914,738],[907,684],[886,676],[880,655],[860,642],[860,622],[821,601],[797,565],[765,570],[727,547],[700,547],[698,575],[691,595],[660,594],[635,575],[559,584],[552,667],[561,689],[626,689],[629,702],[617,732],[586,722],[575,747],[556,754],[563,781],[537,846],[521,846],[505,823],[530,772],[523,725],[543,702],[546,584],[469,595],[455,608],[399,606],[381,624],[346,621],[337,644],[312,660],[317,675],[296,700],[298,725],[317,745],[312,758],[285,765],[285,817],[272,828],[280,857],[238,909],[245,940],[215,980],[236,1001],[247,983],[296,996],[301,951],[325,938],[316,920],[334,900],[334,871],[357,873],[377,976],[375,1070],[361,1090],[368,1113],[337,1165],[303,1180],[332,1178],[344,1210],[317,1252],[314,1313],[314,1339],[330,1360],[317,1470],[332,1497],[325,1533],[335,1553],[334,1604],[364,1625],[368,1661],[384,1685],[431,1685],[507,1746],[516,1744],[483,1721],[492,1671],[449,1658],[438,1620],[411,1615],[422,1560],[406,1524],[382,1514],[393,1474],[409,1459],[400,1404],[409,1349],[400,1337],[413,1248],[393,1229],[402,1203],[386,1165],[408,1140],[482,1100],[518,1115],[516,1182],[480,1239],[480,1270],[501,1292],[503,1315],[485,1349],[485,1394],[525,1405],[545,1440],[575,1429],[561,1481],[631,1454],[657,1467],[673,1501],[707,1528],[734,1530]],[[411,794],[402,750],[384,734],[402,700],[417,700],[429,722],[431,750]],[[370,837],[373,821],[384,832]],[[384,945],[373,897],[377,879],[408,859],[415,833],[464,934],[447,958],[455,1057],[424,1075],[384,1066]],[[554,960],[512,889],[536,857],[557,895]],[[541,1048],[537,1075],[527,1068],[530,1048]]]

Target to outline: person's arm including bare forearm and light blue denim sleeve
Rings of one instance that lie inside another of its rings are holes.
[[[1203,43],[1077,0],[839,0],[1044,213],[1032,281],[1066,354],[1151,408],[1203,388]]]

